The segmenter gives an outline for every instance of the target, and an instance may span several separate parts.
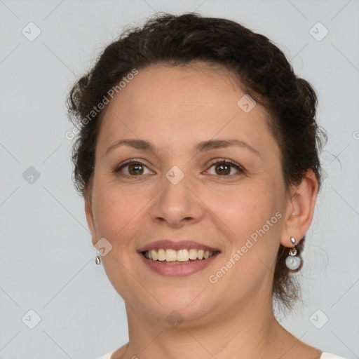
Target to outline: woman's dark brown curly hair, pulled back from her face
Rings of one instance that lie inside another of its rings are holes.
[[[197,13],[162,13],[141,27],[129,27],[104,48],[95,66],[74,84],[68,95],[69,118],[79,131],[72,162],[74,184],[80,194],[86,197],[90,191],[101,126],[103,110],[93,113],[90,121],[83,121],[94,104],[102,102],[109,90],[134,68],[156,64],[176,67],[198,61],[229,70],[245,93],[264,106],[269,114],[269,128],[280,148],[285,190],[300,184],[308,170],[313,170],[320,188],[319,152],[327,135],[316,123],[316,92],[309,82],[294,74],[283,52],[266,36],[238,22],[205,18]],[[298,255],[303,243],[304,238],[297,247]],[[272,297],[290,309],[299,299],[300,287],[285,265],[286,257],[287,248],[280,244]]]

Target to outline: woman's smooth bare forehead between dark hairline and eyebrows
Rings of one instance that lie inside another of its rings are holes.
[[[238,81],[220,67],[151,65],[107,105],[101,142],[138,137],[183,146],[230,136],[247,139],[260,151],[261,140],[270,136],[267,114],[259,104],[245,113],[238,107],[243,95]]]

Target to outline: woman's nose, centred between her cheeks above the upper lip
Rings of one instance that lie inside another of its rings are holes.
[[[151,217],[156,222],[180,227],[201,220],[204,215],[203,203],[189,188],[189,176],[176,183],[163,176],[162,190],[151,207]]]

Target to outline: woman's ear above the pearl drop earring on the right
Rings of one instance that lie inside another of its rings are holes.
[[[313,219],[314,207],[318,195],[318,181],[313,170],[308,170],[301,184],[293,187],[285,208],[285,222],[280,243],[292,247],[290,237],[295,238],[295,244],[304,237]]]

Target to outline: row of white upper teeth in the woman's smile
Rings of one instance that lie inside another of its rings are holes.
[[[171,249],[159,249],[149,250],[144,252],[144,257],[154,261],[160,262],[189,262],[189,259],[208,259],[212,257],[213,252],[209,250],[196,250],[191,248],[190,250],[171,250]]]

